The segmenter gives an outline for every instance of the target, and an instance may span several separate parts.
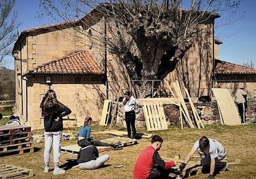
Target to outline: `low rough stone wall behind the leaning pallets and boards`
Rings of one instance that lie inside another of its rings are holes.
[[[194,103],[197,108],[197,113],[201,117],[204,124],[220,124],[220,114],[218,110],[217,101],[211,101],[207,103]],[[190,117],[193,119],[192,110],[190,105],[187,104],[187,108],[190,113]],[[136,111],[136,127],[145,127],[145,118],[143,115],[143,108],[137,108]],[[174,104],[164,105],[164,113],[166,115],[167,124],[171,127],[180,127],[179,119],[179,108]],[[248,123],[252,123],[256,117],[256,101],[248,101],[248,109],[246,111],[246,120]],[[194,123],[194,122],[193,122]],[[117,125],[121,127],[126,127],[125,124],[125,110],[122,103],[118,104],[118,117]]]

